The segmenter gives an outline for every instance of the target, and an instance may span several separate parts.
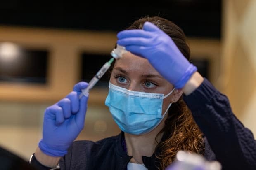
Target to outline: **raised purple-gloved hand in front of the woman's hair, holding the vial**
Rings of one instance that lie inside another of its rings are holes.
[[[117,44],[137,56],[147,58],[176,89],[183,88],[197,71],[197,68],[183,56],[171,37],[153,23],[145,22],[143,30],[123,30],[117,37]]]

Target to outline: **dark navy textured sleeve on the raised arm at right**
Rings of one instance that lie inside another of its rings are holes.
[[[207,80],[184,96],[223,170],[256,170],[256,141],[236,118],[228,98]]]

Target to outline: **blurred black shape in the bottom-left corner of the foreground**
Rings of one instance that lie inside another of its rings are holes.
[[[0,147],[0,170],[38,170],[28,161]]]

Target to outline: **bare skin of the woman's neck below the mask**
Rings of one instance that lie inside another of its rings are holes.
[[[130,160],[131,163],[143,164],[142,156],[150,157],[154,154],[156,145],[161,141],[163,133],[158,135],[157,138],[156,135],[162,130],[162,128],[164,128],[164,122],[168,116],[167,114],[168,113],[166,113],[166,116],[161,123],[159,123],[159,125],[149,133],[144,135],[124,133],[127,154],[129,156],[133,156]]]

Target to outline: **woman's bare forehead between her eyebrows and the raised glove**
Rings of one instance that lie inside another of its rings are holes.
[[[126,72],[144,74],[160,74],[152,67],[147,59],[136,56],[130,52],[123,54],[123,57],[115,62],[115,68],[122,68]]]

